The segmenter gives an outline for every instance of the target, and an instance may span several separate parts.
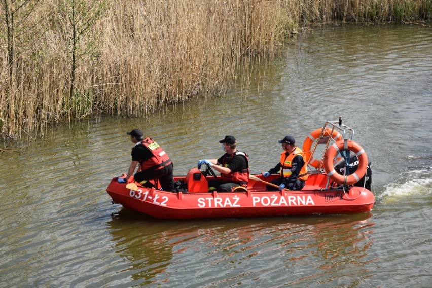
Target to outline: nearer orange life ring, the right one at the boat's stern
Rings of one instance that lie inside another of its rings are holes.
[[[345,145],[346,141],[346,145]],[[333,160],[339,151],[348,149],[357,155],[358,166],[357,170],[351,175],[344,176],[336,172],[333,165]],[[366,156],[365,150],[358,143],[351,140],[337,141],[327,149],[324,155],[324,169],[326,170],[327,176],[329,176],[334,182],[343,185],[351,185],[360,181],[360,179],[366,174],[368,168],[368,156]]]

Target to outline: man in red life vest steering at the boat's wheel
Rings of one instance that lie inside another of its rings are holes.
[[[225,136],[222,149],[226,152],[219,159],[203,159],[198,161],[198,169],[202,164],[210,165],[221,173],[221,179],[209,179],[208,190],[231,192],[234,187],[247,187],[249,181],[249,158],[246,153],[237,151],[234,136]]]

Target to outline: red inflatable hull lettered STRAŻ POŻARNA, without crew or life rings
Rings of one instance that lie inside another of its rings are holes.
[[[374,195],[363,187],[350,187],[348,191],[322,189],[322,179],[310,178],[301,191],[265,191],[263,183],[251,181],[247,192],[224,193],[172,193],[145,187],[134,191],[113,178],[106,191],[115,203],[164,219],[347,214],[373,208]]]

